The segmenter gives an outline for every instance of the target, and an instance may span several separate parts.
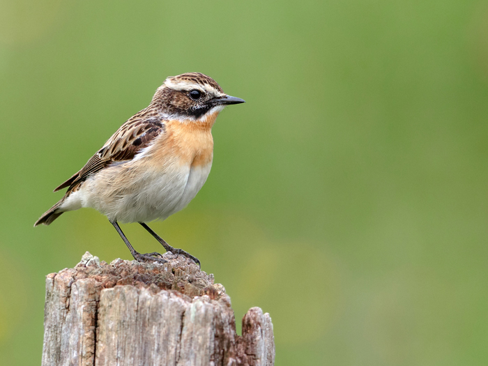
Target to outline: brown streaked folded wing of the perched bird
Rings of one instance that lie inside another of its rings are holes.
[[[135,116],[137,117],[138,114]],[[148,119],[130,119],[125,122],[112,137],[108,139],[103,147],[93,155],[86,165],[73,175],[68,181],[62,183],[54,192],[69,187],[76,188],[90,174],[108,167],[113,162],[132,160],[134,156],[165,132],[165,124],[162,119],[151,117]]]

